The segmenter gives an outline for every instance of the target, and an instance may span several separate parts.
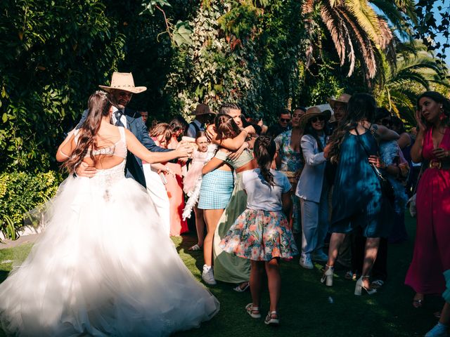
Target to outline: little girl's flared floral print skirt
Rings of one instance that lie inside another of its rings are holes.
[[[221,240],[221,249],[256,261],[292,258],[298,250],[287,225],[281,211],[245,209]]]

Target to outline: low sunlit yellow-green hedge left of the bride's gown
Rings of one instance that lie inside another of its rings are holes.
[[[17,238],[24,214],[53,197],[61,180],[55,171],[0,175],[0,231],[5,237]]]

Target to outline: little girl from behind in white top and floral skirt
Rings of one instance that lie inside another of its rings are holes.
[[[252,303],[245,309],[253,318],[261,317],[259,296],[262,275],[266,270],[270,310],[265,324],[279,324],[278,300],[281,293],[280,258],[298,254],[293,233],[288,229],[285,214],[291,201],[288,178],[270,169],[276,145],[270,137],[260,136],[255,141],[255,159],[259,166],[243,172],[243,187],[247,193],[247,209],[231,226],[220,246],[228,253],[250,260],[250,291]]]

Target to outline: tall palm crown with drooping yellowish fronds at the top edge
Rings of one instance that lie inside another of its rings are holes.
[[[378,14],[374,6],[385,15]],[[408,35],[411,22],[416,20],[411,8],[413,0],[375,0],[373,4],[367,0],[305,0],[302,11],[311,37],[307,59],[314,51],[313,41],[317,33],[314,15],[319,12],[338,53],[340,65],[345,65],[346,61],[349,63],[347,76],[352,75],[356,60],[360,60],[365,79],[371,81],[383,67],[385,55],[388,61],[395,62],[397,39],[393,29],[401,37]],[[388,22],[392,22],[392,28]]]

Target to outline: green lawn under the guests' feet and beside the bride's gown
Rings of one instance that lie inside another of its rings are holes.
[[[344,271],[336,272],[333,287],[323,286],[319,282],[321,265],[304,270],[295,258],[283,262],[281,267],[281,326],[278,328],[265,326],[263,318],[252,319],[245,313],[245,305],[251,302],[250,292],[236,293],[231,284],[219,283],[210,287],[221,303],[219,314],[200,329],[182,331],[175,336],[423,336],[437,322],[433,312],[440,310],[443,300],[434,296],[426,298],[423,308],[411,305],[413,291],[404,286],[404,276],[413,251],[415,220],[407,215],[406,223],[410,239],[403,244],[390,244],[388,280],[374,296],[354,296],[355,282],[344,279]],[[188,251],[195,244],[195,237],[186,235],[173,240],[184,263],[200,280],[203,253]],[[0,250],[0,281],[11,270],[11,263],[2,261],[23,260],[29,251],[30,245]],[[268,309],[269,293],[265,291],[263,314]]]

